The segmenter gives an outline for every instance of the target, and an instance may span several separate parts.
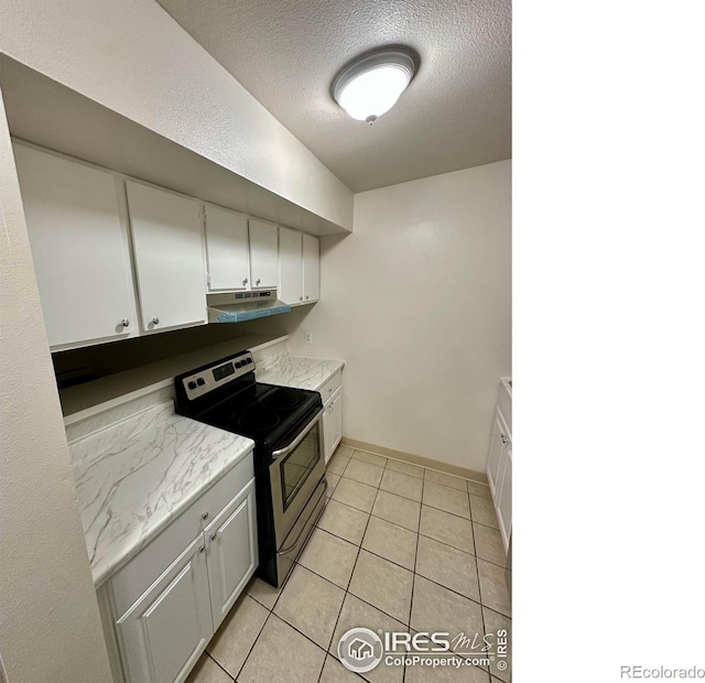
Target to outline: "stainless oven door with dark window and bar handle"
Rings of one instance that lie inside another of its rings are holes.
[[[272,453],[270,483],[276,550],[281,549],[324,474],[321,410],[289,446]]]

